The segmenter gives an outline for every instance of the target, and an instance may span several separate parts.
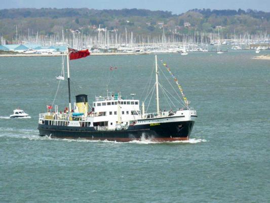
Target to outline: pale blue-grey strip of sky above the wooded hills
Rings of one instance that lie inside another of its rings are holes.
[[[270,11],[270,0],[0,0],[0,9],[89,8],[149,9],[180,14],[190,9],[256,9]]]

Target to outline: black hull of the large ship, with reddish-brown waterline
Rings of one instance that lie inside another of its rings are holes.
[[[82,138],[117,142],[129,142],[145,138],[157,142],[166,142],[188,140],[193,126],[194,121],[179,121],[156,123],[155,125],[130,125],[128,129],[123,130],[95,130],[94,127],[38,124],[38,130],[40,136],[51,138]]]

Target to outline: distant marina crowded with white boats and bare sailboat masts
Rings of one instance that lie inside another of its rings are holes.
[[[65,47],[74,49],[89,49],[91,55],[130,55],[189,52],[227,52],[228,50],[268,50],[270,36],[265,32],[251,35],[248,32],[236,35],[222,36],[217,32],[190,32],[188,34],[171,33],[163,28],[163,34],[158,36],[134,34],[126,32],[111,32],[99,29],[91,34],[57,33],[41,35],[38,32],[28,36],[17,36],[13,41],[7,41],[0,36],[0,56],[11,56],[5,51],[16,52],[14,56],[59,56],[65,52]],[[8,42],[8,44],[7,44]],[[13,55],[13,54],[12,54]]]

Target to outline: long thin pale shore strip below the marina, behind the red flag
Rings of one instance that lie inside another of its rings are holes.
[[[112,55],[143,55],[143,54],[150,54],[147,52],[140,53],[140,52],[129,52],[129,53],[90,53],[92,56],[112,56]],[[0,54],[0,57],[32,57],[32,56],[62,56],[66,54]]]

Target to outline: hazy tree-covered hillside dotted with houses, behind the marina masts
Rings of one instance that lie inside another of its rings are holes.
[[[52,35],[78,30],[84,33],[95,32],[100,25],[108,30],[160,35],[163,29],[174,33],[194,31],[212,32],[217,28],[221,35],[230,33],[251,34],[270,31],[270,13],[256,10],[210,10],[194,9],[180,15],[168,11],[143,9],[94,10],[94,9],[4,9],[0,10],[0,36],[14,39],[16,25],[19,35],[28,33]]]

